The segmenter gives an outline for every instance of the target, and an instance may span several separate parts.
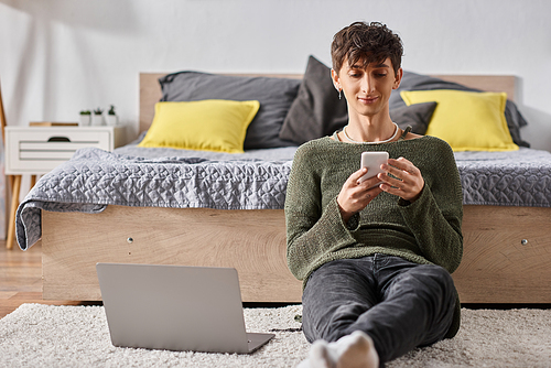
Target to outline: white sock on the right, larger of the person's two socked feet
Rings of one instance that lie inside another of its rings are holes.
[[[328,349],[337,356],[336,368],[379,367],[379,355],[375,349],[374,340],[361,331],[355,331],[331,343]]]

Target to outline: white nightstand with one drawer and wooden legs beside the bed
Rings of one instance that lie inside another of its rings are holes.
[[[126,143],[126,127],[6,127],[6,174],[13,175],[13,193],[6,246],[11,248],[19,206],[21,175],[50,172],[68,161],[76,150],[95,147],[106,151]]]

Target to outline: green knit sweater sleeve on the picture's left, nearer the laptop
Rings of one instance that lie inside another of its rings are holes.
[[[293,160],[285,197],[287,259],[294,277],[304,280],[327,251],[345,248],[355,238],[343,221],[336,196],[322,208],[315,155],[300,148]]]

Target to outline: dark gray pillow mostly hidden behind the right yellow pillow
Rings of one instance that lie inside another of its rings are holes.
[[[467,91],[480,91],[479,89],[469,88],[464,85],[442,80],[440,78],[430,77],[428,75],[403,72],[402,82],[398,89],[392,90],[389,100],[390,109],[396,109],[406,106],[406,102],[400,97],[401,90],[432,90],[432,89],[455,89],[455,90],[467,90]],[[505,118],[507,120],[507,127],[511,133],[512,141],[518,145],[530,147],[530,143],[523,141],[520,138],[520,127],[527,123],[525,118],[520,115],[515,102],[507,100],[505,107]]]

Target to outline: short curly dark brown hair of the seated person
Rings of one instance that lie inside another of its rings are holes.
[[[333,69],[338,73],[347,59],[352,66],[361,61],[364,67],[390,58],[395,74],[402,63],[403,46],[398,34],[379,22],[354,22],[338,31],[331,44]]]

